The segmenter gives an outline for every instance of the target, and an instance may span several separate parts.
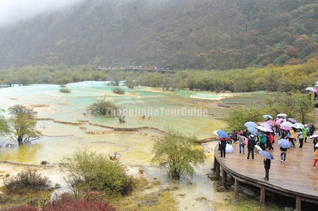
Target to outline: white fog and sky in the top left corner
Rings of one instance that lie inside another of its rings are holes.
[[[38,14],[64,9],[82,0],[0,0],[0,27]]]

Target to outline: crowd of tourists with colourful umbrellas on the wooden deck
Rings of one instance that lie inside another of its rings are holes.
[[[274,151],[275,138],[278,139],[280,150],[280,162],[286,162],[286,157],[290,148],[303,148],[304,142],[312,142],[314,149],[313,168],[316,168],[318,160],[318,134],[315,124],[307,123],[303,125],[293,118],[287,118],[287,114],[281,113],[277,118],[270,115],[264,115],[263,122],[246,122],[245,129],[233,131],[228,134],[223,130],[214,131],[219,141],[219,151],[221,157],[226,157],[226,153],[233,153],[233,142],[239,143],[239,154],[245,155],[247,150],[247,159],[254,159],[254,155],[259,154],[264,157],[265,180],[269,179],[269,169],[271,159],[274,159],[270,151]],[[299,144],[297,144],[297,142]],[[298,146],[297,146],[298,145]]]

